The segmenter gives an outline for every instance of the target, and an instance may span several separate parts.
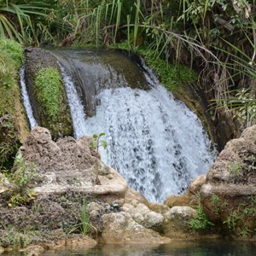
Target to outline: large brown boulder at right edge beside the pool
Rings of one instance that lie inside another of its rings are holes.
[[[241,236],[256,233],[256,125],[231,140],[201,187],[207,217]]]

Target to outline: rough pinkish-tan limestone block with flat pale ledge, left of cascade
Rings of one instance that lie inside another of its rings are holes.
[[[84,194],[124,194],[125,179],[118,172],[100,162],[101,185],[95,185],[96,157],[91,154],[88,137],[79,141],[73,137],[62,137],[54,142],[46,128],[32,130],[26,143],[20,148],[24,160],[38,166],[42,182],[35,191],[38,194],[60,193],[67,190]],[[108,170],[108,172],[106,171]]]

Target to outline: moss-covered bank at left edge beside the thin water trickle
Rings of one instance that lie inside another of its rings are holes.
[[[20,44],[0,38],[0,168],[9,161],[19,147],[18,115],[20,90],[18,71],[24,59]]]

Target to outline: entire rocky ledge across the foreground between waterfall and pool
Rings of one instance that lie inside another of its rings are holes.
[[[127,187],[118,172],[98,160],[89,143],[90,137],[54,142],[49,130],[32,130],[19,150],[24,163],[37,171],[33,187],[29,185],[30,200],[14,204],[17,184],[0,177],[0,247],[37,245],[40,251],[77,241],[93,246],[96,241],[255,237],[256,125],[230,141],[186,194],[170,195],[164,204],[149,203]]]

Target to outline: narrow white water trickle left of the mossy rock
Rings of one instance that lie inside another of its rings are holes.
[[[33,116],[32,106],[29,100],[29,96],[26,90],[26,82],[25,82],[25,67],[20,68],[20,87],[21,87],[21,95],[23,99],[23,104],[26,109],[26,116],[29,121],[31,129],[38,125],[36,119]]]

